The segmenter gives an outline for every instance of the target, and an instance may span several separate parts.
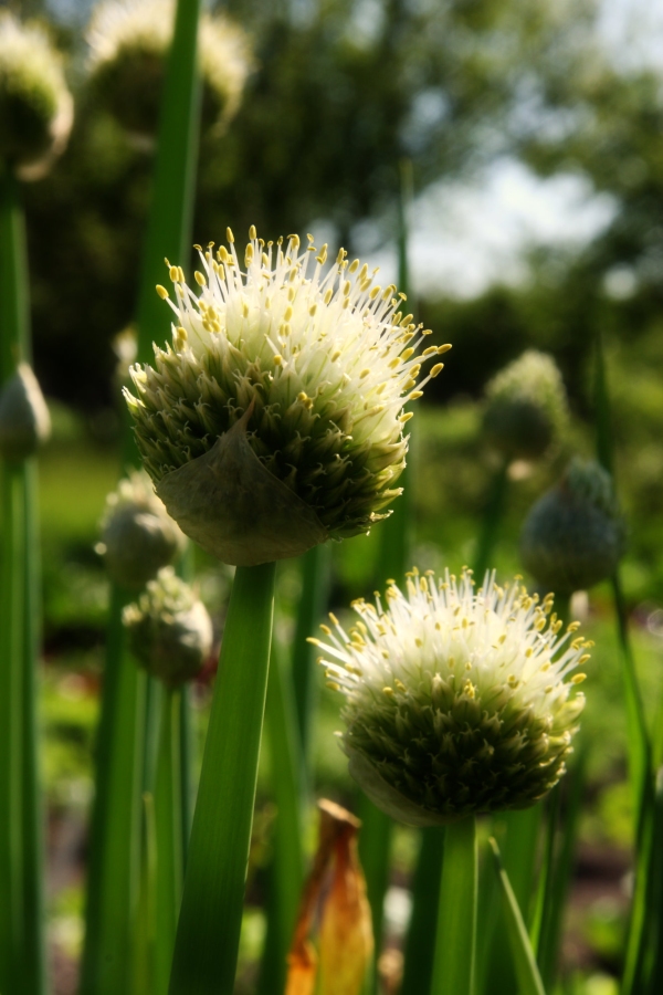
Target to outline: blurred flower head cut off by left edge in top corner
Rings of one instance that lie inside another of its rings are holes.
[[[73,102],[62,60],[46,34],[0,13],[0,159],[39,179],[63,151]]]

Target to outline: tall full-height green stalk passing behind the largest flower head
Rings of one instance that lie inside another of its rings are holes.
[[[138,301],[139,362],[150,358],[152,341],[166,339],[167,310],[158,301],[164,256],[183,259],[191,235],[200,81],[197,40],[200,0],[178,0],[166,66],[152,196]],[[126,419],[124,462],[138,465]],[[144,740],[154,721],[146,710],[146,679],[126,653],[122,637],[123,593],[112,594],[108,651],[97,743],[95,803],[90,838],[90,872],[81,995],[117,995],[129,986],[127,944],[135,926],[140,853],[140,792]],[[117,825],[122,825],[117,835]],[[117,952],[122,952],[119,960]],[[126,955],[125,955],[126,953]],[[110,961],[107,960],[110,957]]]

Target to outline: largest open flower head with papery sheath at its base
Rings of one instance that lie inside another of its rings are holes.
[[[187,535],[221,561],[296,556],[368,532],[399,493],[407,401],[428,334],[404,295],[340,250],[299,239],[266,244],[251,229],[243,266],[230,249],[200,250],[199,294],[170,266],[172,347],[134,366],[125,391],[145,468]]]

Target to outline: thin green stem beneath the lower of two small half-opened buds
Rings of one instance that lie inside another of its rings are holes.
[[[182,890],[180,693],[161,698],[155,778],[156,945],[155,995],[166,995]]]

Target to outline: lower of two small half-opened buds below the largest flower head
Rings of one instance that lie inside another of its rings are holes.
[[[123,621],[138,663],[169,688],[192,680],[212,649],[208,610],[172,567],[159,570],[138,601],[126,606]]]

